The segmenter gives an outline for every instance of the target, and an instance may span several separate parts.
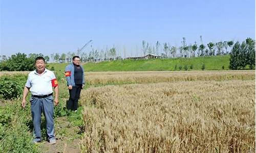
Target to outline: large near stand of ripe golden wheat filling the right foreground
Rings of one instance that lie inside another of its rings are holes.
[[[255,151],[255,80],[94,87],[81,104],[83,152]]]

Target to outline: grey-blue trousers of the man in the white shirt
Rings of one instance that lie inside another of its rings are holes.
[[[46,98],[30,98],[31,113],[34,125],[35,139],[41,140],[41,114],[45,115],[46,131],[48,140],[54,139],[54,122],[53,122],[53,96]]]

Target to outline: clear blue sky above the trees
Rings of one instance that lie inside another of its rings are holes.
[[[181,46],[255,39],[254,0],[48,1],[0,0],[0,55],[105,50],[142,54],[142,40]]]

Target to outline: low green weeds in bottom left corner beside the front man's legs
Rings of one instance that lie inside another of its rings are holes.
[[[7,101],[4,109],[0,110],[1,152],[39,152],[29,132],[32,131],[28,126],[31,122],[30,109],[22,109],[20,101]]]

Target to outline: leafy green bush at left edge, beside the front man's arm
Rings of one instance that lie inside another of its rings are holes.
[[[13,99],[22,96],[27,76],[19,75],[4,75],[0,77],[0,98]]]

